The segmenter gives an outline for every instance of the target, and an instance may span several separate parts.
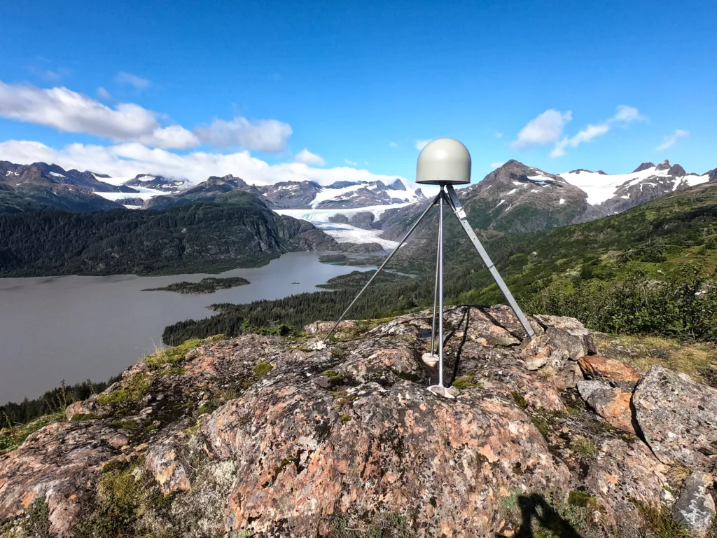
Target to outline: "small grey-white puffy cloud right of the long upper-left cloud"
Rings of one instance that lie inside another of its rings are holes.
[[[194,129],[203,143],[218,148],[242,146],[276,153],[283,151],[293,131],[288,123],[277,120],[249,121],[237,116],[232,121],[214,120]]]

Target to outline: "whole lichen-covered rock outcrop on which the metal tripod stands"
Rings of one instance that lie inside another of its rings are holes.
[[[447,309],[450,397],[426,390],[428,312],[161,351],[0,456],[0,536],[597,535],[647,508],[709,529],[711,389],[653,368],[633,395],[579,322],[530,321]]]

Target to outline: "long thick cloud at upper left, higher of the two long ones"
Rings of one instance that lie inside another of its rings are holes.
[[[0,82],[0,117],[37,123],[69,133],[88,133],[115,142],[186,149],[199,141],[181,126],[162,127],[158,114],[132,103],[114,109],[67,88],[37,88]]]

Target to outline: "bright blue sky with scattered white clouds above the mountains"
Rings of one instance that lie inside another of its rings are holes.
[[[457,138],[627,173],[717,166],[716,1],[2,2],[0,160],[202,181],[414,179]]]

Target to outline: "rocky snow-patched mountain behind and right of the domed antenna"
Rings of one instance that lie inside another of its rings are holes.
[[[623,212],[706,183],[709,174],[687,174],[682,166],[670,165],[669,161],[656,166],[642,163],[631,174],[585,169],[551,174],[511,160],[477,184],[457,189],[457,193],[470,224],[478,230],[536,232]],[[384,230],[381,237],[397,240],[424,207],[412,204],[387,209],[373,227]]]

